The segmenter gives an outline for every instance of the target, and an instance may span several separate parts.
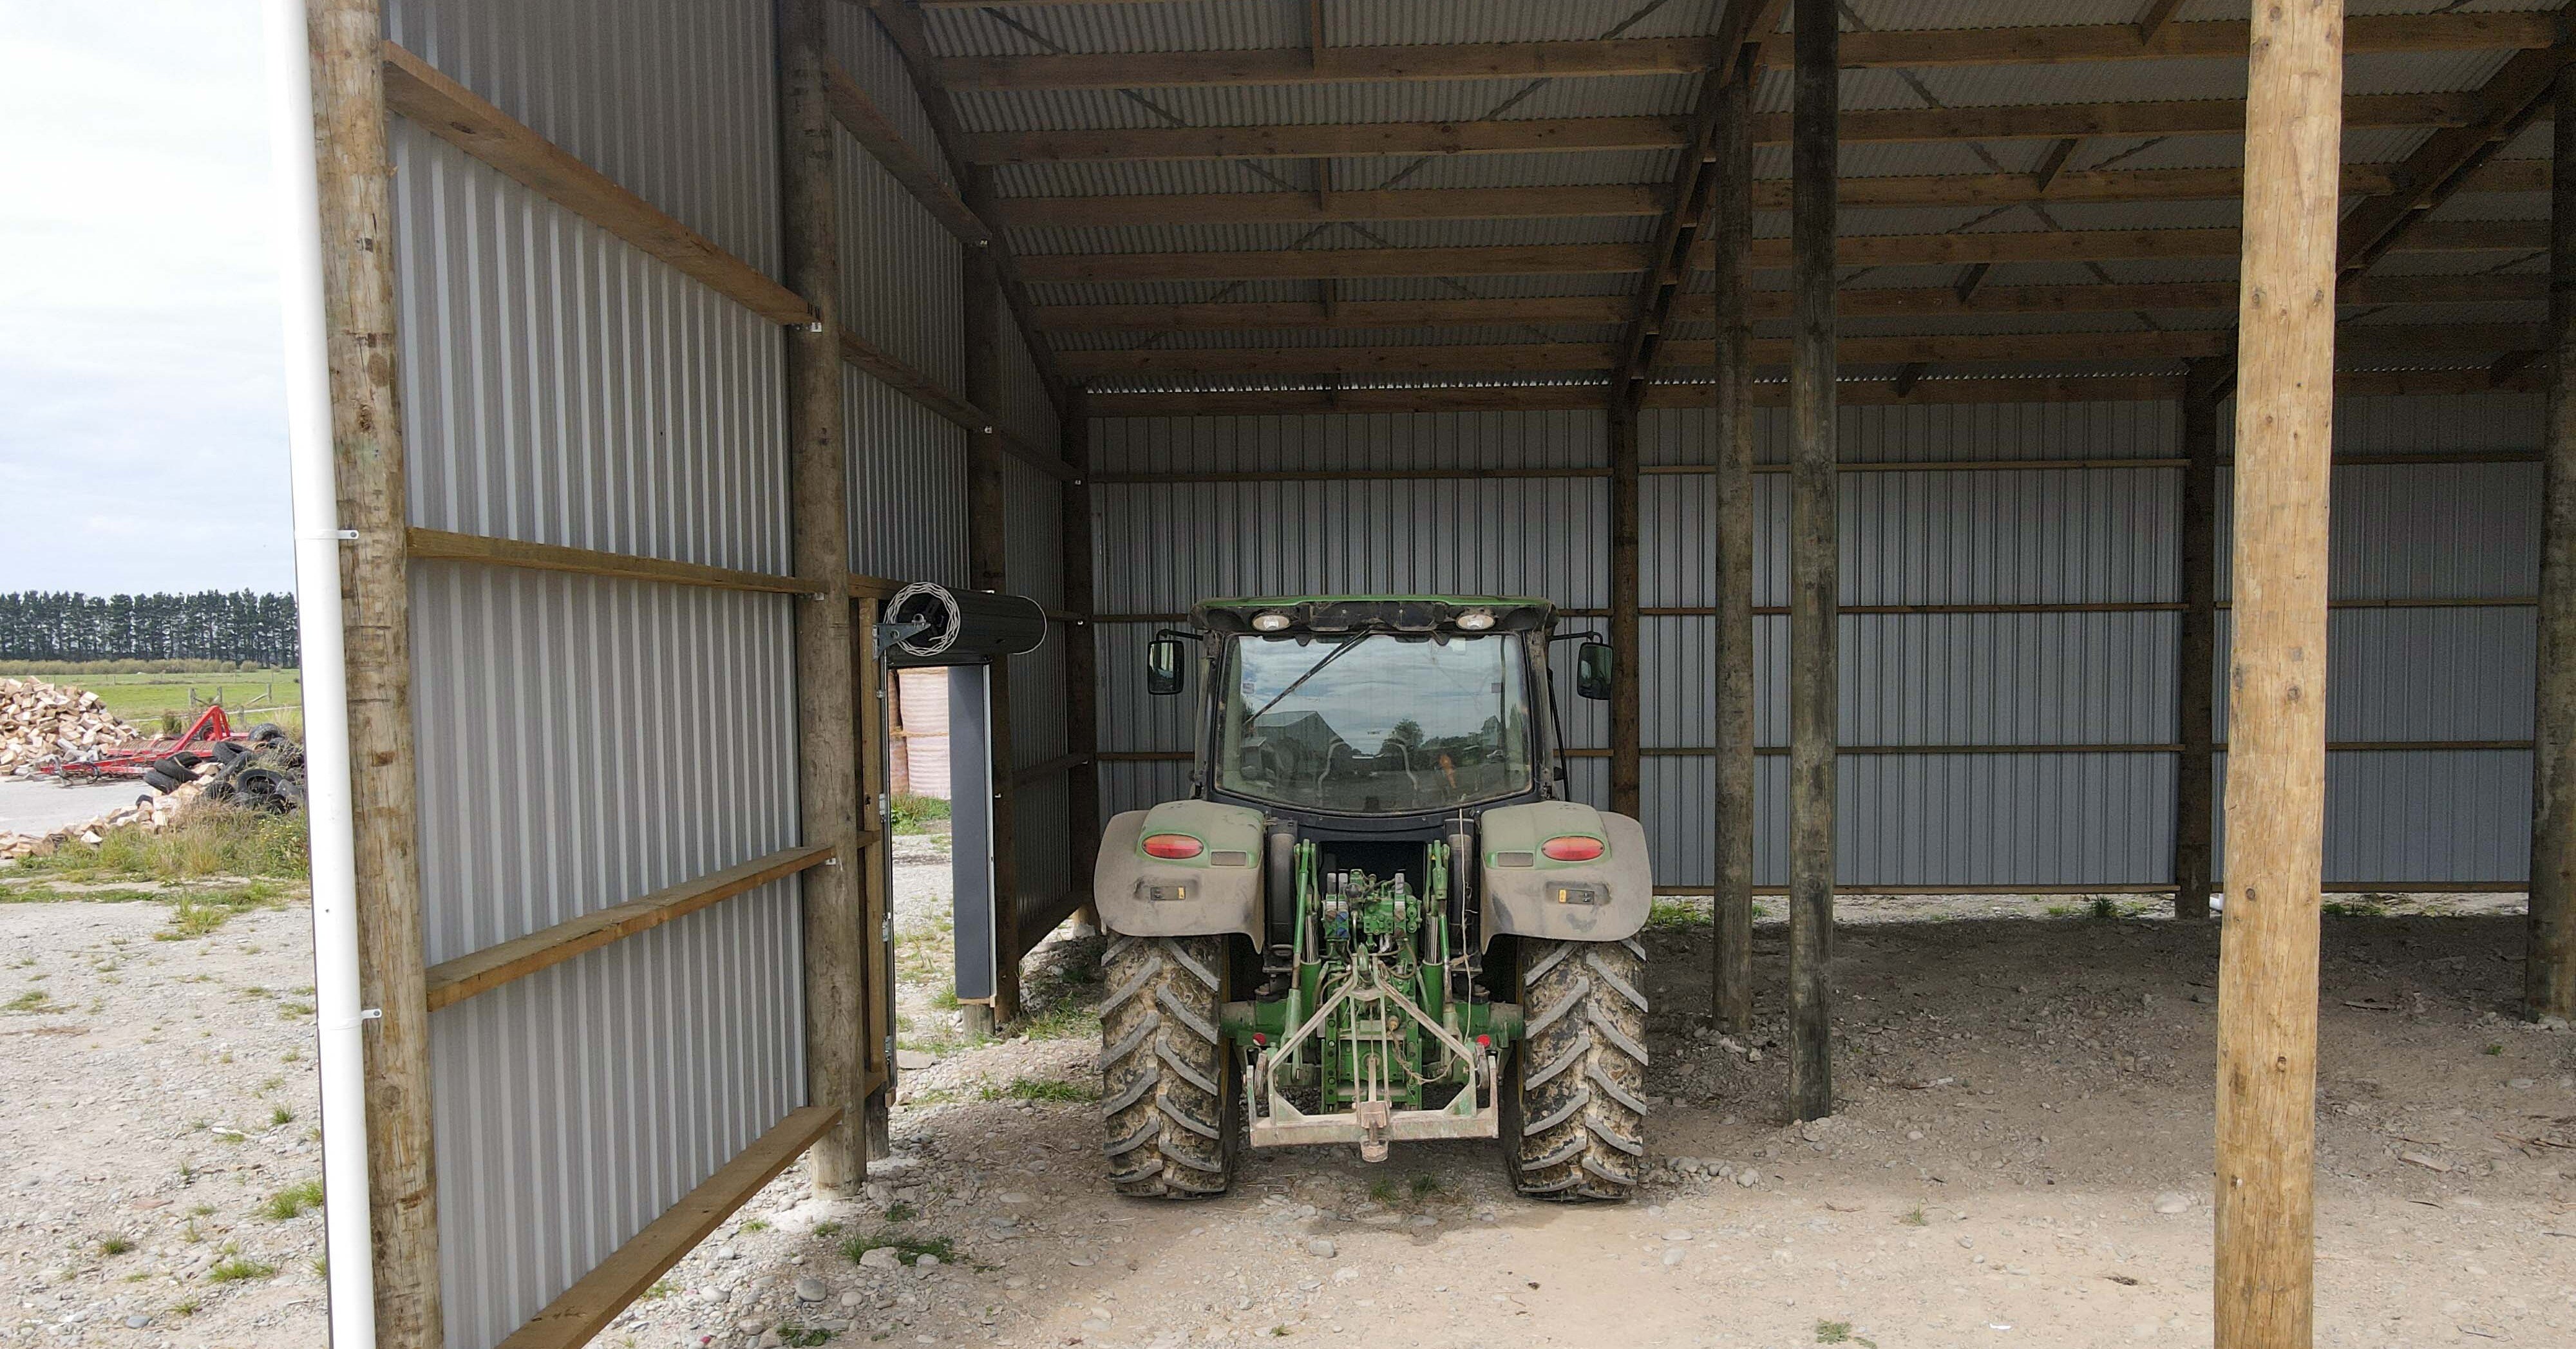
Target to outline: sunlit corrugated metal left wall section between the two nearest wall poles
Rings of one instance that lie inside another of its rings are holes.
[[[394,0],[389,36],[775,275],[770,5]],[[397,118],[412,523],[786,572],[775,324]],[[783,595],[417,564],[428,960],[799,837]],[[430,1025],[448,1344],[804,1104],[796,883]]]

